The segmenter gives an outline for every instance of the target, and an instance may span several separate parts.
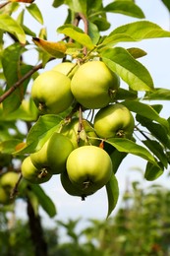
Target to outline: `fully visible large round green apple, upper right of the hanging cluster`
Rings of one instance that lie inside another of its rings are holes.
[[[88,61],[79,67],[71,81],[71,91],[85,108],[108,105],[120,86],[119,77],[102,61]]]

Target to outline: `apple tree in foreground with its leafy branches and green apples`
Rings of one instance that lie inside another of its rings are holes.
[[[170,32],[146,21],[133,0],[54,0],[51,10],[62,5],[66,20],[51,41],[36,1],[0,4],[0,203],[23,198],[34,220],[38,205],[54,217],[40,184],[60,175],[66,192],[82,200],[105,186],[108,217],[119,198],[115,174],[128,155],[146,161],[149,181],[168,168],[169,118],[154,100],[169,100],[170,91],[154,87],[136,42]],[[136,21],[115,28],[108,13]],[[26,26],[27,14],[42,25],[37,34]]]

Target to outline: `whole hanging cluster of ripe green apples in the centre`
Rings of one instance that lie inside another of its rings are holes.
[[[74,115],[66,121],[60,132],[54,132],[38,152],[23,161],[24,178],[42,183],[60,174],[66,192],[82,199],[106,185],[114,162],[100,142],[131,139],[135,125],[127,107],[111,103],[119,87],[117,74],[100,60],[81,65],[64,62],[40,74],[31,96],[41,113],[59,114],[78,102],[84,110],[96,109],[96,114],[93,123]]]

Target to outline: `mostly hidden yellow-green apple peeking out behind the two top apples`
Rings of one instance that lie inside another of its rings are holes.
[[[62,62],[52,68],[52,70],[58,71],[64,75],[66,75],[70,79],[73,78],[77,69],[78,69],[78,65],[76,65],[75,63],[72,63],[72,62]]]

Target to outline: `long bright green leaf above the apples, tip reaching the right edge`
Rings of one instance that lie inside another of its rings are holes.
[[[121,41],[140,41],[158,37],[170,37],[170,32],[162,30],[154,23],[142,21],[118,27],[106,36],[101,45],[114,45]]]

